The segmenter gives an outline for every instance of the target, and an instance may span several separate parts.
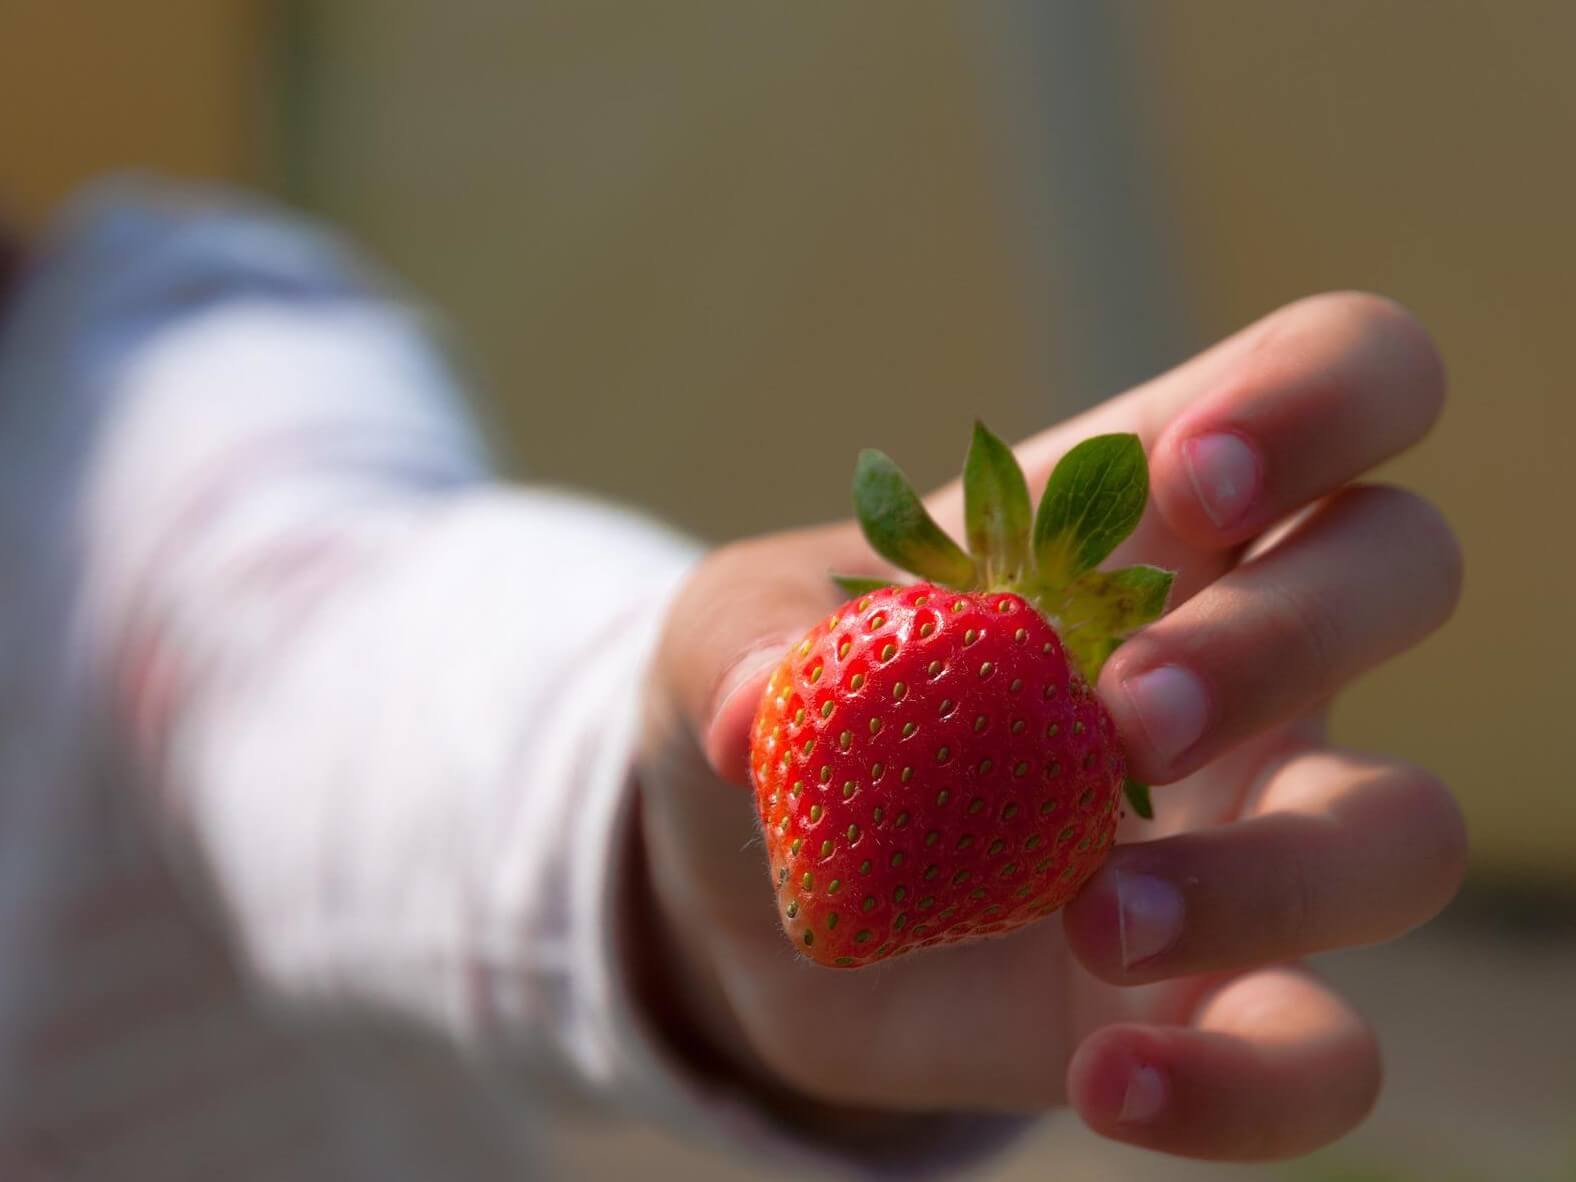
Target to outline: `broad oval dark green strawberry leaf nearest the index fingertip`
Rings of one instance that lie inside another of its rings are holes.
[[[1062,457],[1034,520],[1040,583],[1061,589],[1092,571],[1138,526],[1149,465],[1136,435],[1097,435]]]

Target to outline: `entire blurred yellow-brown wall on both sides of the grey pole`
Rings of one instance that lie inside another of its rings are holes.
[[[0,200],[36,217],[128,162],[279,177],[263,11],[13,0],[0,77],[27,101],[0,104]],[[931,482],[974,414],[1021,435],[1073,403],[1043,361],[976,9],[292,11],[317,74],[293,184],[452,317],[534,474],[723,537],[842,512],[864,443]],[[1390,474],[1459,526],[1467,599],[1344,701],[1340,733],[1445,772],[1480,870],[1576,881],[1554,741],[1576,665],[1576,8],[1113,11],[1199,339],[1370,287],[1415,307],[1451,367],[1444,427]],[[785,433],[790,413],[826,441]]]

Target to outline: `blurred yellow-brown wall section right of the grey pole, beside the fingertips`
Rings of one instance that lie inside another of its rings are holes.
[[[1576,883],[1576,6],[1127,11],[1207,334],[1366,287],[1415,309],[1450,367],[1442,426],[1387,474],[1461,533],[1463,608],[1359,686],[1338,733],[1445,772],[1480,865]]]

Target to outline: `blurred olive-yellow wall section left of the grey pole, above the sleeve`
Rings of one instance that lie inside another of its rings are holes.
[[[727,537],[845,512],[868,441],[938,481],[974,414],[1043,418],[949,6],[317,11],[314,200],[463,326],[536,478]]]

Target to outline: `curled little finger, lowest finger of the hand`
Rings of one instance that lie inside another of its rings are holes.
[[[1067,1069],[1097,1133],[1218,1162],[1294,1157],[1341,1136],[1379,1094],[1368,1024],[1297,969],[1239,977],[1190,1026],[1106,1026]]]

